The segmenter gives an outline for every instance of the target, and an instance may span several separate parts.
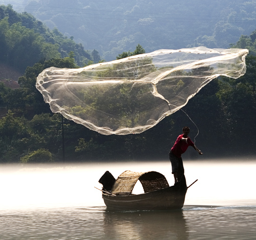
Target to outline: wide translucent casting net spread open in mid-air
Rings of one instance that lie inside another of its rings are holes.
[[[53,113],[100,134],[141,133],[212,79],[245,74],[246,49],[158,50],[80,69],[48,68],[36,88]]]

